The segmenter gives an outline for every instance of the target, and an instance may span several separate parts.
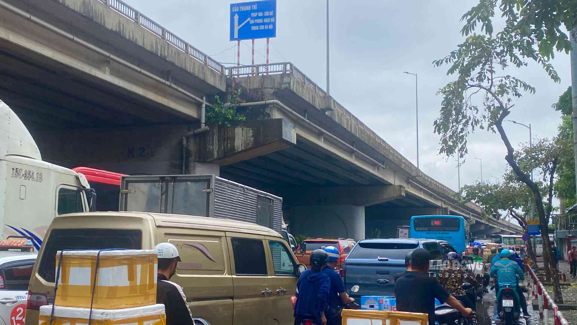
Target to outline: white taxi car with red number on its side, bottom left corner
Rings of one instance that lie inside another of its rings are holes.
[[[28,283],[38,254],[0,251],[0,325],[24,325]]]

